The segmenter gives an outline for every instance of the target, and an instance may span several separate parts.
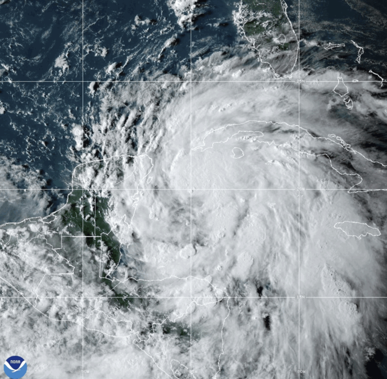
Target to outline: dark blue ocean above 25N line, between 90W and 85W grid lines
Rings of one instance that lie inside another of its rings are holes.
[[[149,80],[157,72],[189,70],[190,33],[166,1],[85,3],[84,79]],[[171,46],[163,49],[168,39]],[[99,54],[106,48],[106,56]],[[106,62],[117,63],[106,74]]]

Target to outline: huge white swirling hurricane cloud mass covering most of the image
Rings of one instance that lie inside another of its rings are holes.
[[[200,59],[193,82],[85,89],[67,204],[44,218],[31,196],[0,229],[1,291],[18,297],[2,352],[18,328],[18,354],[51,362],[35,377],[74,377],[82,351],[96,378],[366,377],[382,360],[384,86],[273,80],[240,56]]]

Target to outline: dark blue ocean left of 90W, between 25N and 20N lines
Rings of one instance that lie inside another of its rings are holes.
[[[82,124],[82,83],[1,83],[0,90],[0,155],[38,172],[46,188],[69,188],[81,160],[72,129]]]

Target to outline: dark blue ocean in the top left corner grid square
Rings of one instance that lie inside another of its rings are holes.
[[[0,80],[81,80],[82,2],[10,1],[0,5]],[[68,53],[70,68],[55,67]]]

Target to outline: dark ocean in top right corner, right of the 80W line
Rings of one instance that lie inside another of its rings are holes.
[[[373,70],[387,77],[386,26],[387,5],[380,0],[353,2],[326,0],[301,2],[301,40],[345,43],[345,48],[327,53],[320,47],[306,47],[301,42],[301,62],[312,69],[332,67],[337,70]],[[312,16],[312,17],[308,17]],[[358,49],[364,49],[360,63],[356,62]],[[376,80],[376,78],[375,78]]]

